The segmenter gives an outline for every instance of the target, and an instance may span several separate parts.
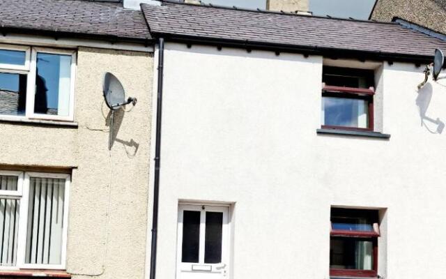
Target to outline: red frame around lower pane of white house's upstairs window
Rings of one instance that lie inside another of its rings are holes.
[[[333,126],[333,125],[322,125],[324,129],[334,129],[334,130],[357,130],[363,132],[373,132],[374,131],[374,95],[375,90],[373,87],[369,89],[364,88],[353,88],[344,86],[330,86],[323,84],[322,97],[338,97],[338,98],[351,98],[367,100],[368,106],[368,127],[367,128],[356,128],[348,126]]]

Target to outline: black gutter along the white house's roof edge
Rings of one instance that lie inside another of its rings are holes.
[[[433,55],[419,55],[419,54],[399,54],[391,52],[380,51],[366,51],[366,50],[348,50],[334,47],[318,47],[316,45],[290,45],[279,43],[265,43],[253,40],[234,40],[225,38],[209,38],[202,36],[188,36],[176,35],[169,33],[152,33],[152,36],[157,38],[164,38],[175,43],[185,44],[200,44],[200,45],[215,45],[217,47],[236,47],[248,50],[268,50],[272,52],[290,52],[300,53],[305,56],[321,55],[328,58],[353,58],[360,60],[375,60],[375,61],[401,61],[411,62],[416,64],[431,63]]]

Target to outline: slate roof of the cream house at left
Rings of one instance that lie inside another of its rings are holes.
[[[0,31],[47,31],[116,40],[151,39],[140,10],[84,0],[0,0]]]

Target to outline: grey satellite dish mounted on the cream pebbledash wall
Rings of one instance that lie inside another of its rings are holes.
[[[104,84],[102,86],[102,92],[104,93],[104,99],[105,103],[107,104],[107,107],[112,110],[112,113],[110,114],[109,118],[109,150],[112,149],[113,145],[113,134],[114,134],[114,128],[113,128],[113,120],[114,120],[114,112],[118,109],[120,109],[123,105],[128,105],[132,103],[133,105],[136,105],[137,98],[129,97],[127,100],[125,100],[125,91],[123,84],[119,82],[118,78],[115,77],[112,73],[105,73],[104,75]]]

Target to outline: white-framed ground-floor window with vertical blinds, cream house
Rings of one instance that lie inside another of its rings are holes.
[[[0,171],[0,268],[65,269],[70,175]]]

